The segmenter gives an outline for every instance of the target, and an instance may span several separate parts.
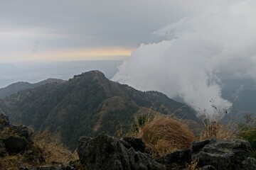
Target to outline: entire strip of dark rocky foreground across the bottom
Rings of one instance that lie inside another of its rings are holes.
[[[64,166],[61,162],[46,164],[42,149],[33,145],[32,131],[26,126],[9,124],[0,114],[0,169],[12,169],[2,164],[6,157],[16,157],[20,170],[82,170],[82,169],[256,169],[250,157],[251,147],[245,140],[194,141],[191,148],[152,158],[145,152],[141,139],[114,138],[106,134],[95,138],[80,137],[79,159]],[[20,155],[19,157],[17,155]]]

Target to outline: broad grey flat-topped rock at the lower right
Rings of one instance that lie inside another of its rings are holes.
[[[245,140],[204,140],[194,141],[191,146],[192,161],[198,160],[198,166],[214,166],[215,169],[242,169],[242,162],[251,152],[250,144]]]

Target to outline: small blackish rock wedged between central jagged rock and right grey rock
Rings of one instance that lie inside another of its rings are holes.
[[[155,160],[171,169],[184,169],[186,168],[186,164],[191,163],[191,149],[179,150]]]

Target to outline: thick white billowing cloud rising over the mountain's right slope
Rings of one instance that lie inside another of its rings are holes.
[[[222,79],[256,79],[256,5],[220,5],[154,31],[165,40],[140,45],[112,80],[181,98],[211,117],[213,103],[228,111],[232,103],[222,97]]]

